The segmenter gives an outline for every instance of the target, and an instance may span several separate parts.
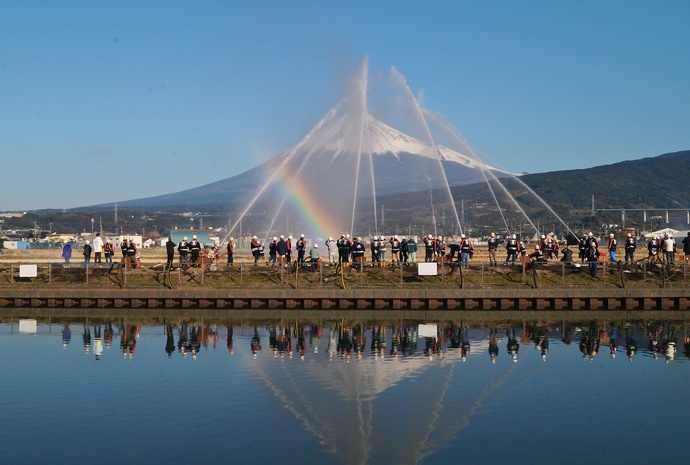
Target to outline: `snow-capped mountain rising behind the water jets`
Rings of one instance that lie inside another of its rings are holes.
[[[364,197],[427,192],[446,187],[446,181],[452,187],[484,182],[487,176],[513,176],[443,145],[424,143],[371,115],[366,115],[367,124],[361,128],[338,113],[332,110],[299,144],[244,173],[117,204],[123,208],[243,204],[267,183],[267,193],[278,195],[270,186],[276,174],[287,183],[307,176],[314,193],[335,191],[338,195],[353,191],[359,177],[360,184],[367,184],[358,193]],[[366,183],[362,183],[364,178]]]

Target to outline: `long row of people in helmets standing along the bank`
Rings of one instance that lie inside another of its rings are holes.
[[[310,247],[305,235],[301,234],[296,241],[291,235],[287,238],[282,235],[280,237],[273,237],[268,245],[268,258],[266,258],[265,245],[257,236],[253,236],[250,242],[250,251],[254,265],[259,265],[262,262],[269,266],[293,263],[293,243],[294,249],[297,252],[294,263],[297,266],[310,265],[314,271],[324,262],[329,266],[348,264],[348,266],[354,267],[364,266],[365,262],[369,262],[371,266],[383,266],[384,264],[392,266],[399,264],[414,265],[417,263],[418,248],[423,248],[424,262],[451,262],[462,268],[469,268],[469,262],[475,252],[475,245],[465,234],[461,234],[458,240],[449,242],[443,236],[428,234],[422,236],[418,245],[417,238],[414,236],[400,237],[393,235],[385,237],[374,235],[371,236],[367,243],[362,237],[350,237],[349,234],[343,233],[338,239],[329,237],[324,242],[324,255],[322,256],[319,244],[312,243]],[[690,232],[681,243],[684,255],[690,256]],[[131,238],[123,238],[119,245],[123,259],[126,259],[131,266],[136,267],[139,264],[139,260],[134,241]],[[626,266],[634,264],[638,243],[630,233],[626,235],[622,247],[624,259],[621,263]],[[388,253],[388,248],[390,248],[390,254]],[[600,249],[604,248],[606,253],[600,251]],[[559,259],[559,255],[561,256],[560,261],[563,263],[576,263],[573,257],[574,251],[567,244],[561,249],[559,241],[554,237],[553,233],[540,235],[534,244],[534,250],[528,253],[525,243],[519,240],[515,234],[500,237],[492,232],[486,238],[486,250],[490,267],[499,266],[501,249],[505,250],[503,266],[515,265],[518,263],[518,257],[522,257],[520,262],[539,265],[547,263],[549,260]],[[600,241],[592,232],[589,232],[579,239],[576,249],[580,263],[588,264],[589,272],[592,276],[596,276],[599,263],[602,259],[605,259],[604,257],[607,257],[612,266],[618,265],[618,242],[614,233],[610,233],[605,241]],[[653,236],[647,242],[646,249],[646,258],[650,263],[665,263],[672,267],[675,266],[677,243],[672,234],[664,234],[663,237]],[[368,259],[367,251],[369,252]],[[236,241],[233,237],[230,237],[225,251],[221,253],[217,243],[211,247],[202,245],[196,235],[192,236],[191,241],[184,237],[178,244],[175,244],[172,238],[168,238],[166,252],[166,266],[168,269],[173,266],[175,254],[179,256],[179,264],[183,268],[201,266],[202,261],[214,262],[219,260],[222,255],[225,255],[227,265],[233,266]],[[85,265],[90,263],[92,253],[94,255],[94,263],[101,264],[103,256],[106,264],[112,264],[114,245],[110,241],[104,242],[100,234],[97,233],[93,243],[86,241],[82,253]],[[69,242],[65,242],[62,249],[62,257],[66,266],[69,266],[71,256],[72,245]]]

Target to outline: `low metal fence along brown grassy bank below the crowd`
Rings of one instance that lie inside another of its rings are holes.
[[[185,288],[194,286],[232,288],[261,286],[266,288],[380,288],[441,287],[453,289],[511,287],[685,287],[688,285],[688,262],[668,263],[599,262],[592,276],[587,263],[566,264],[552,261],[516,263],[513,266],[489,266],[471,262],[461,268],[457,262],[440,262],[431,275],[420,273],[417,264],[348,263],[329,265],[263,264],[202,265],[173,267],[165,265],[132,267],[61,264],[8,264],[0,267],[0,288],[16,287],[107,287],[107,288]]]

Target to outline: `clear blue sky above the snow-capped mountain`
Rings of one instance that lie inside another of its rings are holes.
[[[688,1],[0,0],[0,37],[0,210],[239,174],[367,56],[512,171],[690,149]]]

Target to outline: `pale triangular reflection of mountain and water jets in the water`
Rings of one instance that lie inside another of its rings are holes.
[[[472,358],[488,363],[487,344],[473,340]],[[327,367],[309,358],[298,367],[284,362],[268,370],[256,366],[257,375],[307,431],[349,464],[418,463],[466,427],[513,373],[460,386],[459,349],[431,361],[418,353],[334,358]]]

